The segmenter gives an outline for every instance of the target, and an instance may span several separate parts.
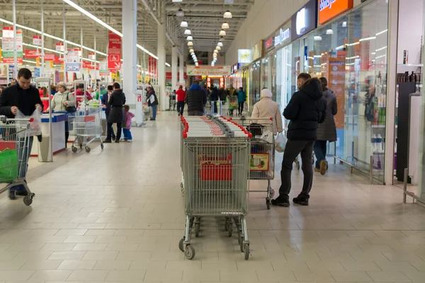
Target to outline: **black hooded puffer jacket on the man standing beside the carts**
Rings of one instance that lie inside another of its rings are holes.
[[[288,139],[295,141],[314,141],[317,139],[317,127],[326,117],[327,102],[323,98],[320,81],[317,78],[307,80],[300,91],[294,93],[283,111],[290,120]]]

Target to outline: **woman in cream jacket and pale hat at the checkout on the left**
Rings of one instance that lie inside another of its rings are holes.
[[[67,85],[61,81],[57,83],[56,86],[57,93],[52,98],[52,105],[50,108],[47,108],[46,112],[49,112],[52,109],[52,112],[75,112],[77,108],[75,107],[76,101],[75,96],[72,95],[67,90]],[[65,147],[67,147],[69,137],[69,125],[68,119],[65,120]]]

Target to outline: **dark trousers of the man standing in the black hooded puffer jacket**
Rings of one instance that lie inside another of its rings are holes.
[[[312,154],[314,141],[291,141],[288,140],[283,153],[282,170],[280,178],[282,185],[279,188],[279,196],[289,199],[290,192],[290,174],[292,172],[293,163],[298,154],[301,154],[302,173],[304,174],[304,183],[302,184],[302,192],[300,197],[310,198],[310,190],[313,184],[313,168]]]

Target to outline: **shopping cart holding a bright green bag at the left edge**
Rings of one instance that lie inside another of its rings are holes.
[[[28,159],[30,158],[30,123],[33,119],[6,119],[0,117],[0,183],[7,184],[0,194],[11,187],[24,187],[27,195],[23,203],[33,203],[35,194],[26,183]]]

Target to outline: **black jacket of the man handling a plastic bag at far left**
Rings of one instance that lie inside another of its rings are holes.
[[[0,115],[5,115],[8,118],[14,118],[15,115],[11,112],[11,107],[16,106],[23,115],[30,116],[35,110],[35,105],[42,102],[38,89],[30,86],[28,89],[23,89],[16,83],[13,86],[4,88],[0,96]]]

